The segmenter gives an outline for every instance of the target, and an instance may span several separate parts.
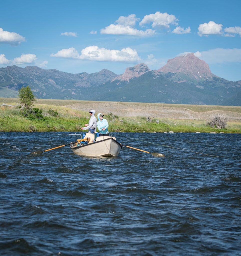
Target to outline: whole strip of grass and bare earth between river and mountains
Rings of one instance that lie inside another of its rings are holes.
[[[110,132],[241,133],[240,106],[37,99],[34,108],[43,111],[43,119],[20,115],[17,98],[0,98],[0,132],[82,132],[88,110],[95,109],[105,115]],[[214,114],[227,116],[225,129],[206,126]]]

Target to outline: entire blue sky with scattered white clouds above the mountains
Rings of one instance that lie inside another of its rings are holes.
[[[0,67],[121,74],[194,52],[215,75],[237,81],[240,9],[236,0],[2,1]]]

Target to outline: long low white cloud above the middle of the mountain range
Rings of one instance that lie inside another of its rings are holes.
[[[50,56],[93,61],[136,62],[141,59],[137,51],[129,47],[123,48],[122,50],[109,50],[105,48],[99,48],[98,46],[88,46],[81,50],[80,55],[75,48],[69,48],[62,49],[56,54],[51,54]]]

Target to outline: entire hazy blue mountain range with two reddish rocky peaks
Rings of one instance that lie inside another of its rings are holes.
[[[241,81],[215,76],[208,64],[193,53],[170,59],[158,70],[140,63],[120,75],[107,69],[71,74],[33,66],[0,68],[0,97],[16,97],[16,91],[27,85],[37,98],[46,99],[238,106],[241,103]]]

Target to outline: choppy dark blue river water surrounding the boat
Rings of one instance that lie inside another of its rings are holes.
[[[1,255],[240,255],[239,134],[112,135],[166,158],[29,155],[80,136],[0,133]]]

